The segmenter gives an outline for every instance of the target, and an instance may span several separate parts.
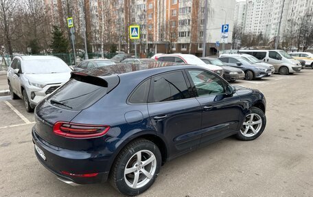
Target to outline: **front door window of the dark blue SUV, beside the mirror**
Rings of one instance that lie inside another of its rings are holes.
[[[224,83],[211,73],[200,70],[189,70],[188,73],[199,97],[225,93]]]

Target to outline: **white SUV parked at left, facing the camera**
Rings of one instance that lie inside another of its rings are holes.
[[[8,68],[12,100],[21,97],[27,112],[71,76],[67,64],[55,56],[15,56]]]

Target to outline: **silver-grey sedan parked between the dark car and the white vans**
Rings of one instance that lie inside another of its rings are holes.
[[[227,66],[242,69],[245,74],[245,80],[266,78],[272,74],[272,71],[268,67],[262,65],[255,66],[240,56],[222,56],[218,59],[224,62]]]

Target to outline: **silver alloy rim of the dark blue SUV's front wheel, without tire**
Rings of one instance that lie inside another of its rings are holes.
[[[246,115],[246,119],[244,120],[244,124],[242,124],[240,132],[242,132],[242,135],[245,137],[252,137],[257,135],[259,130],[261,130],[262,124],[262,118],[258,114],[248,114]]]

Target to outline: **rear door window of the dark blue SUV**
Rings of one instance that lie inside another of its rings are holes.
[[[151,92],[150,102],[167,102],[191,97],[182,71],[155,76]]]

